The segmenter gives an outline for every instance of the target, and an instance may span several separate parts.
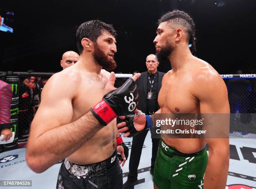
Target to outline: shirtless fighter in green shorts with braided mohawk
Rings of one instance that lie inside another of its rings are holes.
[[[159,19],[156,33],[157,56],[160,59],[168,57],[172,64],[172,70],[162,80],[158,96],[161,108],[156,113],[197,114],[205,117],[204,127],[218,129],[225,124],[226,131],[229,131],[226,85],[210,64],[193,56],[189,49],[190,41],[195,50],[192,18],[179,10],[166,13]],[[212,115],[223,119],[210,120]],[[152,125],[151,117],[141,115],[137,110],[135,116],[120,118],[126,120],[118,124],[119,132],[125,132],[124,136],[132,136]],[[225,189],[229,166],[228,132],[226,138],[215,137],[174,139],[161,135],[154,169],[154,188]]]

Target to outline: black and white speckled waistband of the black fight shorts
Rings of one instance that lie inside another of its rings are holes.
[[[73,174],[74,176],[77,176],[78,179],[80,179],[81,177],[87,178],[91,176],[97,176],[102,172],[107,171],[115,165],[117,159],[117,152],[115,151],[108,159],[88,165],[72,163],[66,158],[64,161],[64,166],[70,174]]]

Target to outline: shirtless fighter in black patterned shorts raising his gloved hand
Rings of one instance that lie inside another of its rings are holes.
[[[114,88],[115,30],[99,20],[77,29],[79,61],[54,74],[44,86],[31,125],[28,166],[41,173],[61,164],[57,189],[120,189],[128,148],[117,132],[116,117],[129,115],[138,102],[135,81]],[[113,90],[114,89],[114,90]],[[105,95],[106,94],[106,95]]]

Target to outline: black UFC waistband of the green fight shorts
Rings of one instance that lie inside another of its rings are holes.
[[[159,146],[162,149],[162,151],[164,152],[164,154],[169,157],[173,157],[174,155],[180,156],[180,157],[198,156],[198,155],[202,154],[205,149],[204,148],[201,151],[196,152],[196,153],[182,153],[182,152],[178,151],[176,148],[173,148],[172,146],[168,146],[162,139],[160,139]]]

